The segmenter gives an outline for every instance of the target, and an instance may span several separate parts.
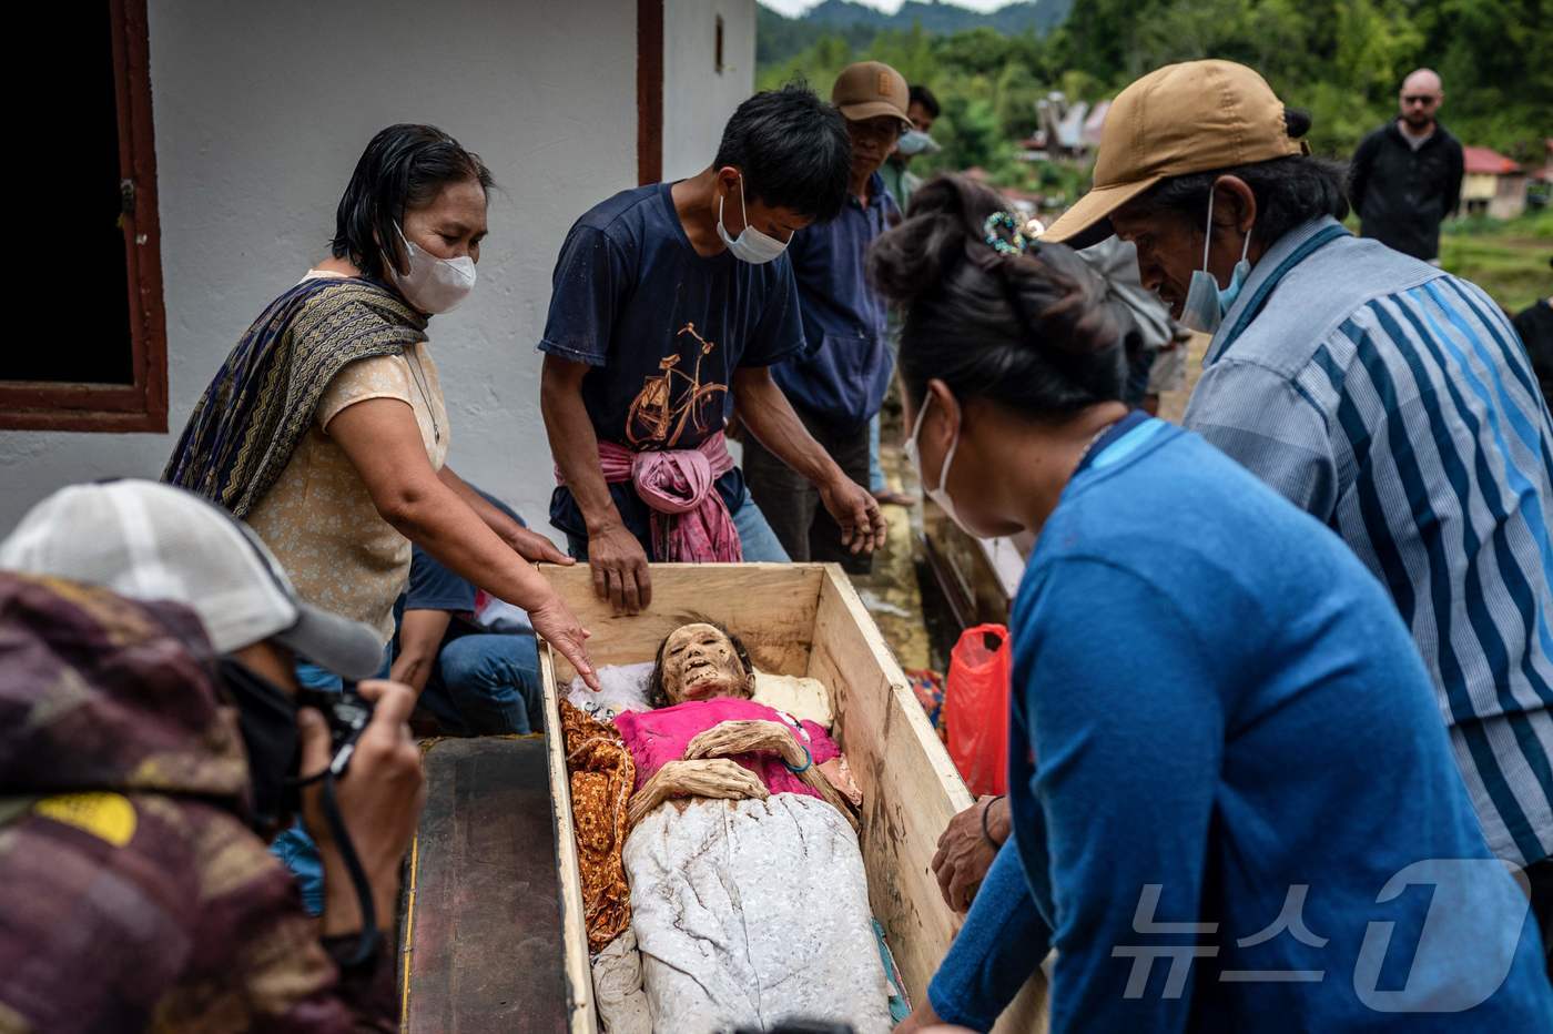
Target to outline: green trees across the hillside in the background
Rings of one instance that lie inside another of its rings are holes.
[[[822,31],[770,16],[784,23],[770,39],[763,9],[759,53],[789,56],[763,61],[758,84],[801,76],[823,96],[849,62],[885,61],[944,102],[933,130],[944,151],[913,168],[980,165],[1009,179],[1014,143],[1036,127],[1036,102],[1050,90],[1093,102],[1160,65],[1227,57],[1312,113],[1315,152],[1346,157],[1365,132],[1396,116],[1402,78],[1433,67],[1446,84],[1443,120],[1452,132],[1541,161],[1542,141],[1553,137],[1548,8],[1553,0],[1073,0],[1045,37],[1000,33],[988,20],[935,34],[921,23]],[[812,39],[797,51],[795,25]]]

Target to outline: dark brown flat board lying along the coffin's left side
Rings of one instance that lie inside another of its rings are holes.
[[[443,739],[405,890],[404,1029],[567,1031],[542,737]]]

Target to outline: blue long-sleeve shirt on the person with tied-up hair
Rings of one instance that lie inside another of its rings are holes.
[[[1014,604],[1014,840],[935,1011],[989,1026],[1050,936],[1053,1032],[1553,1029],[1382,587],[1197,436],[1104,444]]]

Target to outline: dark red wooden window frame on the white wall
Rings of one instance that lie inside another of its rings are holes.
[[[168,430],[168,323],[162,303],[162,227],[151,121],[146,0],[110,0],[118,84],[118,169],[134,383],[0,380],[0,429]]]

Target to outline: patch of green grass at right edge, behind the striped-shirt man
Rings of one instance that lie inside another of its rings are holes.
[[[1457,219],[1440,234],[1440,261],[1505,311],[1520,312],[1553,295],[1553,208],[1520,219]]]

